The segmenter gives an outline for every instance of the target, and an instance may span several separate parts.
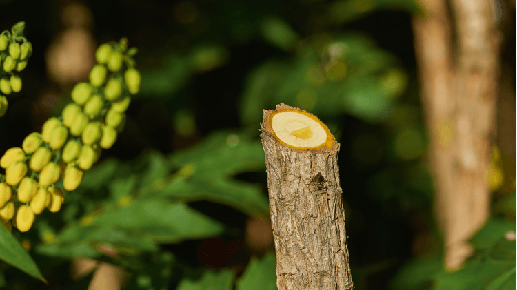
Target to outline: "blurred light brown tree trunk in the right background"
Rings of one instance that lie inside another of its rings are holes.
[[[486,172],[496,133],[500,32],[491,0],[422,0],[413,19],[416,61],[445,267],[472,249],[489,216]]]

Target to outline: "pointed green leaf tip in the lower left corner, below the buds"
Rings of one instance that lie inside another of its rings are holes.
[[[0,227],[0,259],[45,282],[45,278],[41,275],[36,262],[32,260],[27,251],[23,249],[6,227]]]

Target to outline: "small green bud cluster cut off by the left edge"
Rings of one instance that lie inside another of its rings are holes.
[[[27,66],[32,54],[32,44],[23,37],[25,23],[16,23],[11,32],[0,33],[0,117],[8,108],[6,96],[21,90],[21,78],[14,72],[21,72]]]

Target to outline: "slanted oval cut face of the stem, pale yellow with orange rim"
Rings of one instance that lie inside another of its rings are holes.
[[[270,114],[270,127],[274,136],[295,149],[332,147],[334,136],[316,116],[296,109],[285,109]]]

